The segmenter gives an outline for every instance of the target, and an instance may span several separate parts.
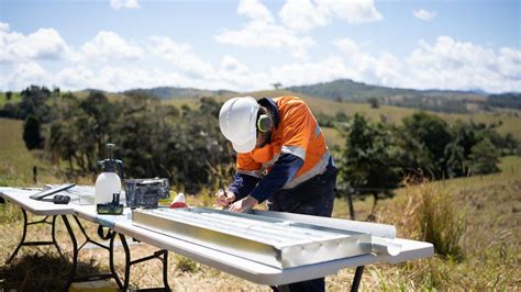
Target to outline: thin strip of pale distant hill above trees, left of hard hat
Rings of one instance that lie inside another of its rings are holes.
[[[214,97],[233,93],[230,90],[203,90],[196,88],[179,88],[179,87],[156,87],[151,89],[132,89],[123,91],[126,93],[145,93],[156,97],[158,99],[186,99],[186,98],[202,98]]]

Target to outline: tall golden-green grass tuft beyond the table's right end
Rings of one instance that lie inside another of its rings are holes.
[[[462,260],[461,242],[466,226],[462,206],[453,195],[426,181],[420,182],[418,191],[417,220],[421,239],[432,243],[437,255]]]

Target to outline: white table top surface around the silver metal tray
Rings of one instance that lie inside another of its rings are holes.
[[[87,221],[101,224],[106,227],[149,244],[160,249],[174,251],[201,263],[208,265],[224,272],[241,277],[245,280],[266,285],[280,285],[334,274],[344,268],[366,266],[375,262],[397,263],[411,259],[430,257],[434,254],[432,244],[396,238],[401,245],[398,256],[368,254],[321,263],[301,266],[289,269],[278,269],[256,261],[236,257],[202,245],[197,245],[173,236],[167,236],[137,227],[132,224],[130,209],[125,207],[123,215],[99,215],[93,205],[56,205],[52,202],[38,202],[29,199],[34,193],[12,188],[0,188],[0,195],[37,215],[74,214]]]

